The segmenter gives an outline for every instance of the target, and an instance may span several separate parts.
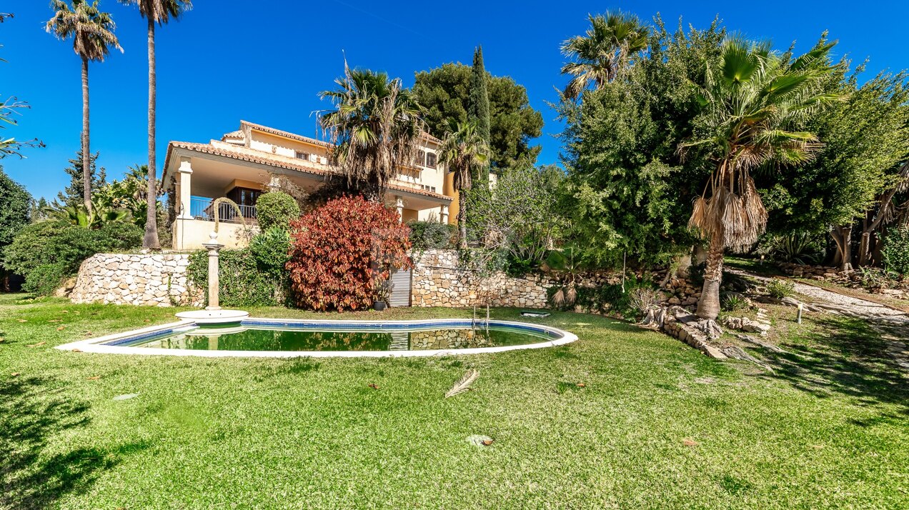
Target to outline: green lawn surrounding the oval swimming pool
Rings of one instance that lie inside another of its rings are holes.
[[[909,506],[906,380],[852,321],[788,325],[774,375],[575,314],[535,320],[578,342],[496,355],[131,357],[53,346],[174,309],[23,297],[0,295],[3,508]]]

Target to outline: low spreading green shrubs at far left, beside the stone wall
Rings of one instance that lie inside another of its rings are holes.
[[[4,264],[25,276],[23,290],[50,294],[91,255],[124,251],[142,244],[142,229],[130,223],[109,223],[96,230],[62,222],[27,225],[6,247]]]

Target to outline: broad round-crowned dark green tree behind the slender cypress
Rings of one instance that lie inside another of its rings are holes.
[[[468,121],[471,67],[445,64],[416,74],[414,94],[425,107],[424,120],[432,135],[439,138],[451,130],[451,123]],[[508,76],[486,73],[489,97],[489,142],[494,168],[510,168],[518,162],[533,165],[540,146],[532,139],[543,133],[543,115],[531,107],[527,91]]]

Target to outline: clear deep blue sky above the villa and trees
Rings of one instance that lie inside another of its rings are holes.
[[[44,32],[49,1],[5,3],[15,19],[0,25],[0,95],[15,95],[31,109],[19,125],[0,135],[38,137],[45,148],[26,149],[24,160],[5,158],[7,174],[37,196],[53,197],[66,184],[66,160],[79,147],[80,62],[71,42]],[[389,11],[387,5],[394,5]],[[385,70],[412,85],[415,71],[446,62],[471,60],[484,46],[486,69],[511,75],[527,87],[531,104],[543,113],[540,163],[554,163],[560,146],[552,135],[561,126],[547,101],[563,57],[559,44],[586,28],[586,15],[611,8],[649,20],[663,15],[668,25],[708,25],[720,15],[730,29],[768,38],[785,48],[804,49],[824,29],[840,40],[838,55],[870,58],[868,75],[909,67],[904,21],[909,2],[787,2],[754,8],[731,2],[411,2],[357,0],[195,0],[182,21],[158,30],[158,166],[167,142],[207,142],[239,125],[240,119],[302,135],[316,135],[314,110],[326,107],[316,96],[343,70],[342,50],[351,65]],[[147,62],[145,23],[133,8],[101,0],[114,15],[124,54],[90,70],[92,150],[110,177],[146,155]],[[784,8],[781,13],[778,9]]]

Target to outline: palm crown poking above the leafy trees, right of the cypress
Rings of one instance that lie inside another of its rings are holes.
[[[647,49],[650,30],[636,15],[614,11],[589,19],[585,35],[562,43],[562,55],[573,59],[562,66],[563,75],[574,76],[564,90],[569,99],[577,99],[590,82],[600,88],[613,81],[632,55]]]

